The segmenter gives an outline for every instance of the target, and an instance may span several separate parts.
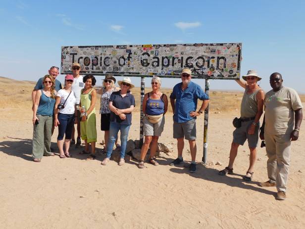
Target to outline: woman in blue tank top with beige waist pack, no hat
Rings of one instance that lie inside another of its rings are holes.
[[[145,135],[145,142],[141,149],[141,156],[139,168],[144,169],[144,158],[147,154],[148,148],[151,145],[151,154],[149,162],[154,166],[158,163],[155,160],[155,151],[157,148],[158,138],[163,132],[165,123],[165,113],[167,111],[167,96],[160,92],[161,79],[154,76],[152,79],[152,92],[145,94],[143,99],[143,112],[145,117],[143,119],[143,130]]]

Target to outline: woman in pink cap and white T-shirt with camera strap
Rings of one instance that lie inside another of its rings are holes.
[[[75,117],[77,116],[75,109],[76,97],[75,93],[71,90],[73,80],[72,75],[66,75],[65,87],[59,90],[56,95],[54,126],[58,126],[57,146],[60,158],[71,157],[69,147],[72,128]],[[64,135],[65,139],[63,140]],[[63,151],[63,143],[65,145],[65,151]]]

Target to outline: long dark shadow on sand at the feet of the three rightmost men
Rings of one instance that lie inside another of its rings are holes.
[[[275,196],[276,192],[263,189],[258,186],[259,182],[246,182],[243,181],[240,178],[237,178],[235,176],[243,177],[243,175],[233,173],[232,175],[228,176],[219,176],[218,170],[213,168],[205,167],[202,163],[197,163],[197,172],[196,173],[190,173],[187,163],[184,162],[184,165],[179,166],[179,168],[174,167],[170,169],[173,173],[178,174],[185,174],[188,173],[190,176],[203,179],[205,181],[215,182],[215,183],[224,183],[226,185],[229,185],[231,187],[239,187],[244,189],[250,189],[253,191],[258,191],[267,195],[273,195]],[[255,185],[253,185],[255,184]]]

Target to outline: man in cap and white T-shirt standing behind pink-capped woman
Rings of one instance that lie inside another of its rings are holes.
[[[76,138],[76,147],[79,147],[81,145],[81,125],[80,125],[80,117],[81,112],[79,110],[79,101],[81,99],[81,90],[84,88],[85,84],[83,82],[83,77],[80,75],[81,71],[81,65],[77,62],[74,62],[72,64],[72,73],[73,73],[73,84],[72,84],[72,91],[75,93],[76,96],[76,117],[75,122],[77,124],[77,138]],[[73,125],[72,129],[72,137],[71,137],[71,144],[75,144],[75,128]]]

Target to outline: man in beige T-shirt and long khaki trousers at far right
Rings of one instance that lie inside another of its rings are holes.
[[[271,91],[265,96],[265,116],[259,137],[266,142],[268,156],[267,182],[262,187],[276,186],[278,200],[286,199],[291,141],[299,138],[303,106],[298,93],[283,85],[282,75],[270,76]]]

